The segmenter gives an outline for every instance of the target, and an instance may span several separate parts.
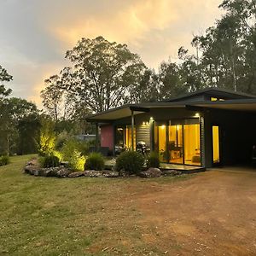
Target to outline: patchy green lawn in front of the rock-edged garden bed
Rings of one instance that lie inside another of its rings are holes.
[[[21,172],[32,155],[0,167],[0,255],[151,255],[132,197],[179,178],[55,178]],[[132,193],[131,193],[132,191]]]

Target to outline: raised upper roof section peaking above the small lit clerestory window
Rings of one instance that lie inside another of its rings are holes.
[[[181,100],[187,100],[189,98],[195,97],[195,96],[201,96],[201,95],[211,95],[211,96],[222,96],[222,97],[230,97],[234,99],[247,99],[247,98],[256,98],[256,96],[244,93],[244,92],[238,92],[234,90],[226,90],[221,89],[217,87],[208,87],[202,90],[196,90],[194,92],[189,92],[186,94],[183,94],[181,96],[172,97],[170,99],[166,99],[163,102],[179,102]]]

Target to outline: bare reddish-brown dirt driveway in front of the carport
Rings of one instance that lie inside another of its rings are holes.
[[[166,255],[256,255],[256,172],[211,171],[135,195],[143,240]]]

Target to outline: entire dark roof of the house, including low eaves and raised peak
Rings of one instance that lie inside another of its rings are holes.
[[[213,94],[212,94],[213,93]],[[190,101],[190,98],[201,96],[203,94],[212,96],[227,96],[231,99],[225,101]],[[235,111],[256,112],[256,96],[246,93],[234,92],[231,90],[207,88],[198,90],[190,94],[169,99],[165,102],[148,102],[141,104],[126,104],[119,108],[112,108],[101,113],[91,114],[86,117],[89,122],[112,122],[116,119],[123,119],[134,115],[149,112],[151,108],[216,108]]]

